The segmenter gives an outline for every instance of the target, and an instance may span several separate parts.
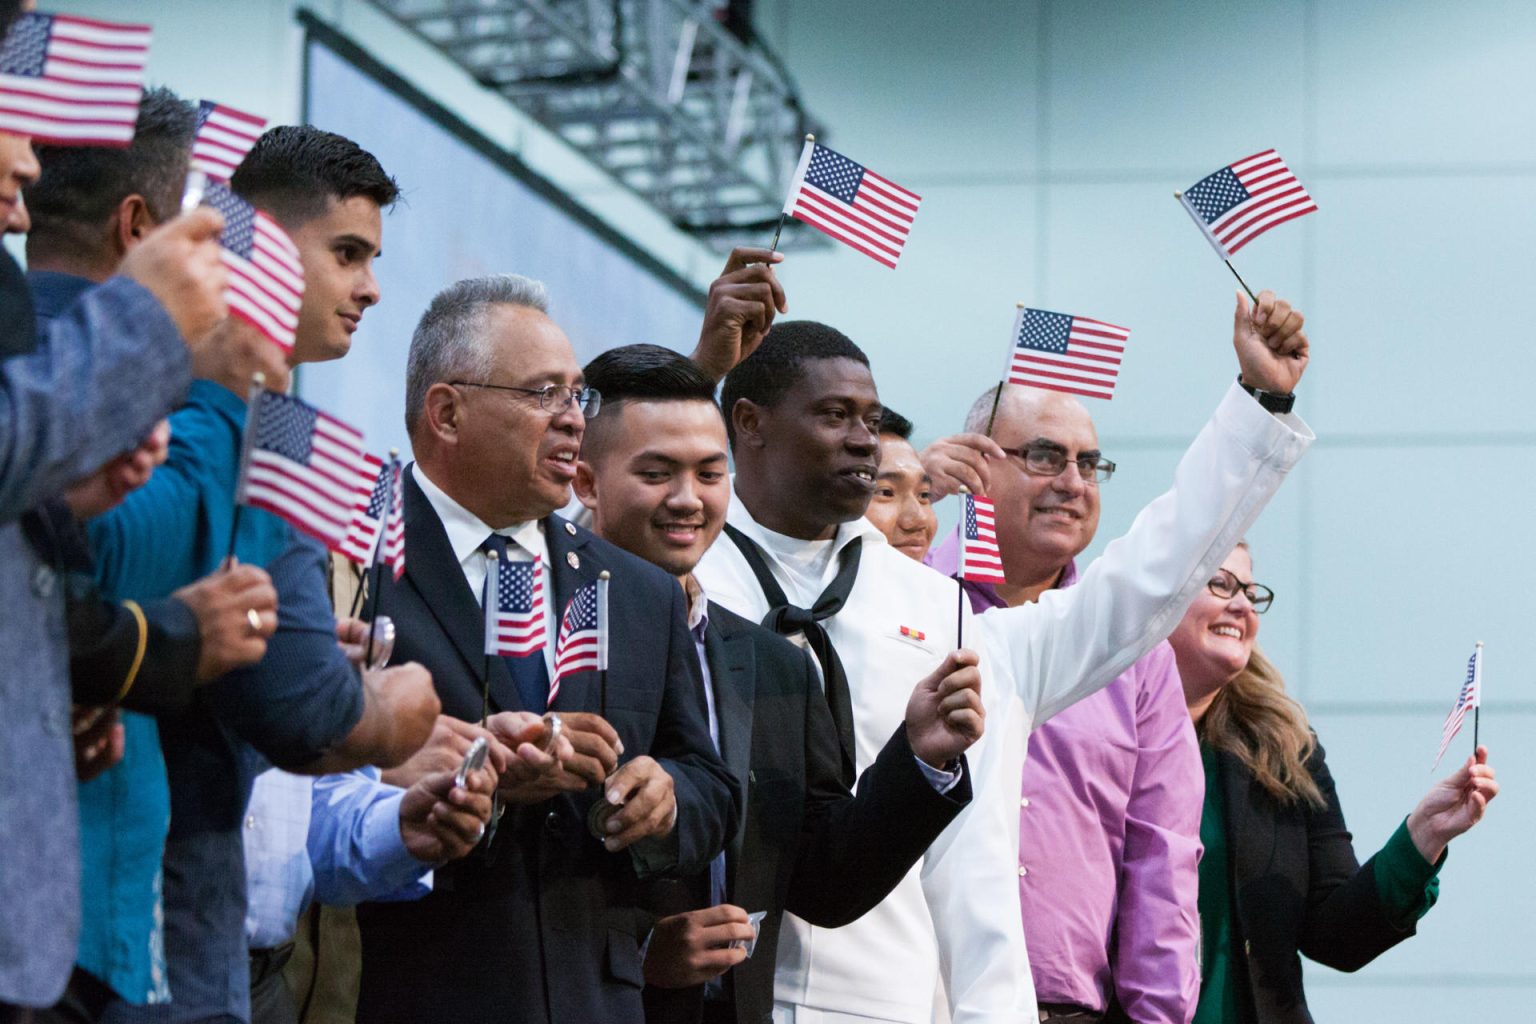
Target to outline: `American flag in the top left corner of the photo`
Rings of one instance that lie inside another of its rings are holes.
[[[23,14],[0,43],[0,130],[54,146],[127,146],[149,26]]]

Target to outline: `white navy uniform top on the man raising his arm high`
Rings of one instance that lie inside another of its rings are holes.
[[[889,548],[866,520],[837,531],[836,548],[865,537],[852,593],[823,623],[848,674],[859,769],[902,722],[914,683],[955,646],[957,617],[965,645],[982,654],[986,738],[969,755],[971,806],[879,907],[836,930],[786,915],[776,999],[925,1024],[942,973],[955,1024],[1035,1019],[1017,877],[1028,732],[1107,685],[1174,629],[1312,439],[1299,418],[1272,416],[1233,385],[1180,462],[1174,488],[1141,511],[1081,582],[980,617],[954,580]],[[739,500],[730,520],[763,536]],[[796,593],[763,547],[790,600],[809,605],[817,594]],[[836,570],[834,557],[823,585]],[[737,614],[766,614],[730,539],[716,542],[697,577]]]

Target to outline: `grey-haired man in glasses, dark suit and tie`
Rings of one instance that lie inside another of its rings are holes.
[[[430,897],[359,909],[362,1021],[637,1024],[642,880],[703,870],[736,831],[740,797],[710,743],[682,591],[553,514],[601,399],[545,307],[536,281],[481,278],[445,289],[418,324],[407,568],[379,608],[395,620],[395,657],[432,669],[445,714],[548,708],[571,754],[502,777],[505,815],[476,854],[436,874]],[[542,651],[484,654],[492,551],[496,563],[533,562]],[[553,663],[561,613],[599,573],[610,574],[605,686],[591,671],[559,679]],[[504,738],[519,749],[528,735]],[[607,821],[590,815],[599,798],[619,804]]]

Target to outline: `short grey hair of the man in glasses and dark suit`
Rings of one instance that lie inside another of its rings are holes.
[[[485,382],[493,352],[485,318],[493,306],[522,306],[550,312],[542,281],[519,273],[465,278],[438,292],[410,336],[406,356],[406,431],[416,434],[427,390],[439,381]]]

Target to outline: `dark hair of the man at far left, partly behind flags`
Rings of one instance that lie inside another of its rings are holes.
[[[26,187],[29,252],[69,253],[101,244],[101,226],[131,195],[169,220],[181,206],[197,107],[170,89],[149,89],[126,147],[37,146],[43,173]]]

